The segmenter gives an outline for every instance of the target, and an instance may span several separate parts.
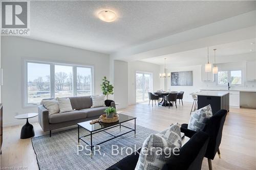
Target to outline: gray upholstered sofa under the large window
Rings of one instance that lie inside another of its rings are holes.
[[[92,106],[91,96],[79,96],[79,97],[70,97],[70,102],[73,111],[65,113],[55,113],[49,114],[49,111],[43,106],[38,106],[38,122],[42,130],[50,131],[54,129],[68,127],[76,125],[77,123],[93,120],[99,118],[101,114],[104,114],[104,110],[109,107],[115,107],[115,102],[111,100],[106,100],[104,107],[95,107]]]

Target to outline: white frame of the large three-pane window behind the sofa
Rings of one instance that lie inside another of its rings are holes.
[[[35,107],[40,104],[31,104],[28,103],[28,63],[35,64],[49,64],[50,65],[50,98],[55,98],[55,65],[63,65],[63,66],[72,66],[73,70],[73,96],[77,96],[77,67],[82,68],[91,68],[91,95],[94,94],[94,66],[93,65],[80,65],[80,64],[71,64],[71,63],[63,63],[63,62],[51,62],[51,61],[40,61],[40,60],[31,60],[24,59],[23,63],[23,107]]]

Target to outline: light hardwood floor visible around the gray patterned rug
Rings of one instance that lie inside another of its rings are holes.
[[[171,123],[188,123],[190,108],[191,103],[186,102],[184,106],[178,105],[178,109],[155,105],[152,108],[147,103],[142,103],[120,111],[136,116],[140,126],[162,131]],[[42,132],[38,123],[33,123],[33,126],[36,136],[48,134]],[[22,126],[4,128],[1,167],[26,166],[28,169],[38,169],[31,139],[19,139],[21,128]],[[256,169],[255,109],[230,108],[223,128],[220,152],[221,159],[217,155],[212,161],[213,169]],[[208,169],[206,158],[202,169]]]

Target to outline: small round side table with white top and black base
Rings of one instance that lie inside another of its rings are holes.
[[[38,113],[26,113],[15,116],[17,119],[27,119],[27,123],[22,127],[22,131],[20,131],[20,139],[27,139],[35,136],[34,127],[29,123],[29,118],[35,117],[37,115]]]

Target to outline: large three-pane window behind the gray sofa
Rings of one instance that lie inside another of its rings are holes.
[[[47,98],[92,95],[91,66],[26,61],[25,70],[25,106]]]

